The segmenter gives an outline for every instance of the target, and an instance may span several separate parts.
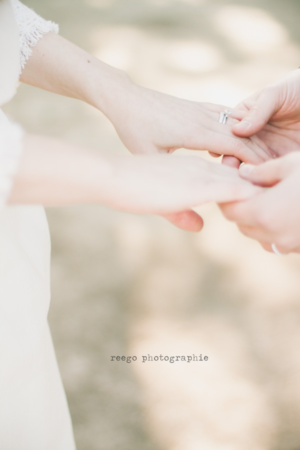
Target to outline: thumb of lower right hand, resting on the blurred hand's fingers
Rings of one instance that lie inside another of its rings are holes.
[[[242,164],[238,173],[241,178],[251,181],[262,187],[271,187],[277,184],[288,173],[290,168],[284,157],[269,160],[259,165]]]

